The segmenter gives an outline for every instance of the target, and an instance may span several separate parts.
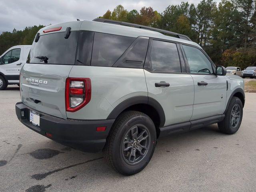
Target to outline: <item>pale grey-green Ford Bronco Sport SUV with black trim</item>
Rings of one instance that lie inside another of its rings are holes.
[[[244,81],[187,36],[105,19],[50,25],[20,71],[16,115],[66,146],[104,151],[117,172],[149,163],[156,140],[218,123],[240,127]]]

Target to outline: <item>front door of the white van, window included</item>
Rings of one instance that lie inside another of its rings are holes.
[[[8,50],[6,54],[1,57],[1,72],[6,76],[9,83],[19,81],[20,67],[23,60],[23,47],[15,47]]]

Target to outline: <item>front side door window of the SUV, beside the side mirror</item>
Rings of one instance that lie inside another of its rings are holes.
[[[202,51],[192,46],[183,45],[191,73],[213,74],[212,63]]]

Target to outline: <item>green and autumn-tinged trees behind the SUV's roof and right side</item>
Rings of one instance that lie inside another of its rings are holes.
[[[210,55],[215,64],[256,66],[256,0],[202,0],[169,5],[161,14],[152,7],[128,12],[118,5],[103,18],[152,26],[185,34]]]

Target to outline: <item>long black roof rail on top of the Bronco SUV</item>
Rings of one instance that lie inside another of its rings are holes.
[[[166,31],[166,30],[162,30],[162,29],[157,29],[157,28],[153,28],[153,27],[148,27],[148,26],[143,26],[143,25],[138,25],[138,24],[133,24],[133,23],[127,23],[127,22],[122,22],[122,21],[115,21],[115,20],[110,20],[110,19],[102,19],[102,18],[96,18],[93,21],[136,27],[136,28],[147,29],[147,30],[151,30],[151,31],[157,31],[160,33],[165,33],[165,34],[170,34],[170,35],[176,36],[177,38],[180,38],[180,39],[192,41],[186,35],[178,34],[178,33],[171,32],[171,31]]]

